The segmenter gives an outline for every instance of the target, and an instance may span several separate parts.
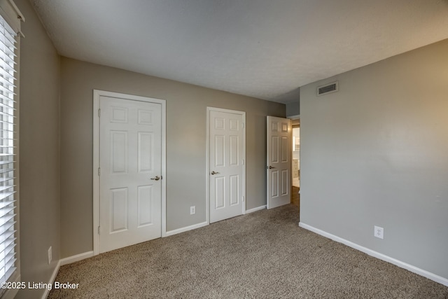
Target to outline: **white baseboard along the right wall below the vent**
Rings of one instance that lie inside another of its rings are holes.
[[[332,239],[333,241],[342,243],[346,246],[349,246],[353,249],[357,249],[359,251],[362,251],[363,253],[367,253],[369,256],[373,256],[374,258],[379,258],[380,260],[384,260],[388,263],[391,263],[393,265],[396,265],[398,267],[402,267],[403,269],[409,270],[410,272],[414,272],[416,274],[419,274],[423,277],[426,277],[428,279],[431,279],[435,282],[438,282],[439,284],[443,284],[444,286],[448,286],[448,279],[445,277],[441,277],[437,274],[428,272],[426,270],[420,269],[419,267],[415,267],[413,265],[409,265],[408,263],[402,262],[401,260],[397,260],[395,258],[391,258],[390,256],[386,256],[383,253],[379,253],[377,251],[373,251],[372,249],[368,249],[364,246],[360,246],[356,243],[350,242],[346,239],[342,239],[341,237],[337,237],[335,235],[330,234],[329,232],[325,232],[323,230],[319,230],[318,228],[314,228],[311,225],[307,225],[305,223],[300,222],[299,226],[301,228],[304,228],[306,230],[311,230],[311,232],[316,232],[316,234],[321,235],[323,237],[328,237],[329,239]]]

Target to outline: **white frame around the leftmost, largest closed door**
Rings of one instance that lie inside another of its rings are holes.
[[[161,104],[162,106],[162,237],[167,236],[167,109],[165,99],[153,99],[118,92],[93,90],[93,254],[99,254],[99,99],[116,97],[140,102]]]

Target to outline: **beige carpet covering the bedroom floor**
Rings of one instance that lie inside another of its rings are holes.
[[[289,204],[65,265],[48,298],[448,298],[448,287],[297,226]]]

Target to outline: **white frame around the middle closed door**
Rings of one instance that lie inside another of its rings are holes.
[[[244,123],[244,130],[243,130],[243,159],[244,159],[244,165],[243,165],[243,196],[244,196],[244,204],[243,204],[243,215],[246,214],[246,112],[244,111],[237,111],[237,110],[230,110],[230,109],[222,109],[222,108],[215,108],[215,107],[209,107],[207,106],[207,137],[206,137],[206,173],[207,173],[207,183],[206,183],[206,221],[208,224],[210,224],[210,111],[218,111],[218,112],[226,112],[226,113],[234,113],[241,115],[243,117],[243,123]]]

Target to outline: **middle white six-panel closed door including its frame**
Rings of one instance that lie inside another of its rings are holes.
[[[209,222],[244,214],[246,113],[207,108]]]

